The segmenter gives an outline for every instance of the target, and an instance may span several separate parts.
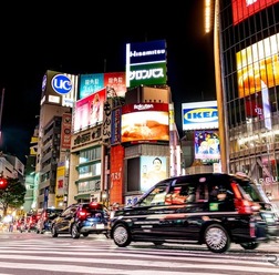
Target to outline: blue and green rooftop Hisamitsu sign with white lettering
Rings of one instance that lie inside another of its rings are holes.
[[[166,41],[126,44],[126,86],[166,84]]]

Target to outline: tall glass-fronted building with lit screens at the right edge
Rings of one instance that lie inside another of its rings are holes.
[[[279,198],[279,1],[215,1],[223,171]]]

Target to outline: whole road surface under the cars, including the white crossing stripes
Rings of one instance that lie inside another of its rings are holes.
[[[121,248],[104,235],[73,240],[17,232],[0,233],[0,275],[279,274],[279,243],[255,251],[232,244],[216,254],[199,245],[132,243]]]

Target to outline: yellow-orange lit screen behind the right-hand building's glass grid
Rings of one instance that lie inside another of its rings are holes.
[[[238,95],[245,98],[279,84],[279,34],[237,52]]]

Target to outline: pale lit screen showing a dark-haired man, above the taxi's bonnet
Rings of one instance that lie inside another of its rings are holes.
[[[166,156],[141,156],[141,191],[167,177]]]

